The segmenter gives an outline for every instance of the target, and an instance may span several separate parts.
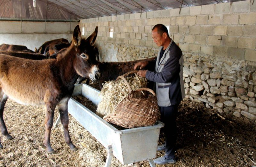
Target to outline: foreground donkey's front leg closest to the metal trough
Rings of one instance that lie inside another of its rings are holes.
[[[64,137],[65,141],[70,147],[72,151],[76,151],[77,148],[74,146],[70,139],[69,131],[68,131],[68,100],[69,98],[65,98],[61,100],[58,104],[59,112],[60,112],[60,121],[63,126],[63,131],[64,131]]]

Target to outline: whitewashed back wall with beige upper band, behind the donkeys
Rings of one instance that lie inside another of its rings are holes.
[[[44,42],[58,38],[72,39],[76,22],[0,21],[0,44],[39,48]]]

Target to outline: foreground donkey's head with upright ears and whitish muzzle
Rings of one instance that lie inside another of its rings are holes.
[[[82,39],[79,25],[77,25],[72,40],[76,49],[76,59],[74,61],[75,70],[80,76],[90,78],[92,81],[96,81],[100,78],[100,70],[97,66],[98,62],[96,61],[97,52],[93,46],[97,34],[98,26],[87,39]]]

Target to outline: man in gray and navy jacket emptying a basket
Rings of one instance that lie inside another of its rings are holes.
[[[165,155],[154,160],[157,164],[175,163],[176,143],[176,115],[180,101],[185,97],[183,84],[183,55],[178,45],[170,38],[167,28],[157,24],[152,29],[152,38],[160,47],[156,62],[140,61],[137,67],[155,65],[155,71],[139,70],[140,77],[156,82],[157,103],[160,108],[161,118],[164,122],[165,144],[158,146],[157,150],[165,150]]]

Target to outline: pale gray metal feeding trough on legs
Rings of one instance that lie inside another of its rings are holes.
[[[96,106],[100,102],[100,91],[86,84],[75,85],[72,96],[76,95],[83,95]],[[150,166],[155,167],[152,159],[156,157],[160,128],[164,126],[162,122],[118,130],[72,97],[68,101],[68,112],[107,148],[105,167],[110,165],[113,155],[123,164],[149,160]]]

